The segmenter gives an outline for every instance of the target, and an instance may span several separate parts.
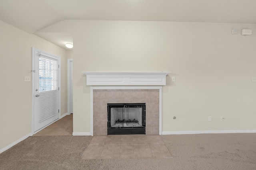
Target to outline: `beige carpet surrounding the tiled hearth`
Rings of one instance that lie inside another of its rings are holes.
[[[0,170],[256,170],[256,133],[162,135],[173,158],[90,159],[90,136],[28,137],[0,154]]]

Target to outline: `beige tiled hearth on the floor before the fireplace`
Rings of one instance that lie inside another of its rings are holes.
[[[82,159],[171,158],[160,135],[94,136]]]

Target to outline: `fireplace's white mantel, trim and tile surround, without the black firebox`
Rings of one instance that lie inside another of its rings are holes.
[[[90,87],[90,134],[107,135],[107,104],[146,103],[146,135],[162,134],[162,86],[170,72],[83,72]]]

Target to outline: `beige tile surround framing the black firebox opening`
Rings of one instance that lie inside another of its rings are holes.
[[[159,135],[159,89],[93,90],[93,135],[107,135],[108,103],[146,103],[146,135]]]

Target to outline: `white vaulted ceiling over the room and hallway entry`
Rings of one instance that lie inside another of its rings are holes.
[[[0,20],[64,49],[72,35],[38,33],[62,20],[256,23],[256,0],[0,0]]]

